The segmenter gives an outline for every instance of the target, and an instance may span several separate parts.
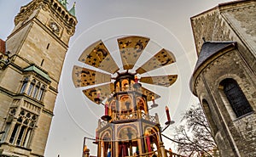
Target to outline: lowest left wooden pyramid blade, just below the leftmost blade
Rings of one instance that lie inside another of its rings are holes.
[[[105,98],[108,98],[113,93],[113,83],[105,84],[98,87],[83,90],[84,95],[96,104],[101,104]]]

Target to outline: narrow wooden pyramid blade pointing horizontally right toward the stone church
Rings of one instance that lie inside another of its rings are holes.
[[[177,80],[177,75],[141,77],[140,81],[152,85],[170,87]]]

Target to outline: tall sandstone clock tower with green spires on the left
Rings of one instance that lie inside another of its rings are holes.
[[[44,156],[61,68],[77,24],[74,6],[67,10],[66,4],[33,0],[15,17],[0,53],[0,156]]]

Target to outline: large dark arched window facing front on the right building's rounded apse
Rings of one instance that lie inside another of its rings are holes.
[[[229,100],[231,108],[236,114],[236,117],[246,115],[247,113],[253,111],[246,96],[241,91],[241,88],[235,80],[228,78],[224,81],[221,81],[220,85],[223,87],[224,94]]]

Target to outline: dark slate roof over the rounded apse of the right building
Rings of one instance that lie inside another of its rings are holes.
[[[203,64],[207,59],[212,57],[215,53],[228,48],[230,46],[235,46],[236,42],[204,42],[201,47],[201,52],[199,53],[197,62],[195,64],[195,70],[197,70],[201,64]],[[194,71],[195,71],[194,70]]]

